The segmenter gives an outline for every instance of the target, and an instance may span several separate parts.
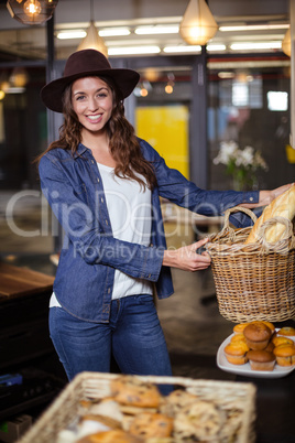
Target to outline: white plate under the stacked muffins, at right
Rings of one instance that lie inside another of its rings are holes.
[[[276,329],[278,331],[278,328]],[[227,360],[227,357],[225,355],[225,347],[229,344],[231,337],[234,334],[231,334],[228,336],[228,338],[225,339],[225,342],[221,343],[219,346],[219,349],[217,352],[217,366],[227,371],[227,372],[232,372],[237,374],[238,376],[244,376],[244,377],[255,377],[255,378],[281,378],[287,376],[289,372],[292,372],[295,369],[294,366],[278,366],[275,365],[274,369],[269,371],[269,370],[253,370],[250,367],[250,363],[245,363],[244,365],[232,365]],[[294,337],[288,337],[294,341]]]

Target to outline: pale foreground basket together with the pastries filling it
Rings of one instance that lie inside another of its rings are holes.
[[[250,443],[254,420],[252,383],[81,372],[19,443]]]

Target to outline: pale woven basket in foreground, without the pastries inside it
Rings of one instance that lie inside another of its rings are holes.
[[[114,377],[118,375],[100,372],[81,372],[76,376],[18,443],[57,443],[58,432],[75,421],[79,400],[101,399],[109,396],[110,380]],[[236,423],[233,439],[225,441],[254,442],[255,387],[252,383],[194,380],[184,377],[134,377],[155,385],[182,387],[201,400],[214,401],[227,414],[227,426],[230,428],[230,420],[234,420]],[[215,440],[215,443],[218,442]]]

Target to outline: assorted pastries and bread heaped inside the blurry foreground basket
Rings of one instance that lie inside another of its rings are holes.
[[[162,396],[155,383],[140,377],[110,378],[105,396],[79,400],[76,417],[58,431],[56,443],[238,442],[244,401],[234,404],[227,391],[223,407],[217,391],[199,392],[178,386]]]

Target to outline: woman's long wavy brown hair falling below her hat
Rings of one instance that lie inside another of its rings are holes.
[[[109,138],[109,149],[116,161],[114,174],[123,179],[132,179],[145,187],[153,188],[156,177],[152,164],[144,159],[133,126],[124,117],[124,106],[121,93],[109,77],[99,76],[112,91],[112,114],[106,126]],[[72,84],[63,94],[64,123],[59,128],[59,139],[52,142],[46,151],[37,156],[36,163],[42,156],[53,149],[62,148],[70,150],[74,154],[81,141],[81,128],[78,117],[72,105]],[[138,175],[141,174],[146,183]]]

